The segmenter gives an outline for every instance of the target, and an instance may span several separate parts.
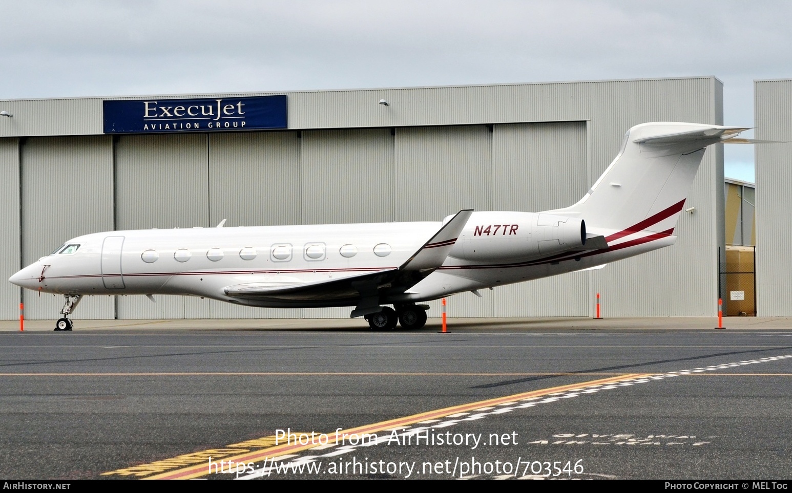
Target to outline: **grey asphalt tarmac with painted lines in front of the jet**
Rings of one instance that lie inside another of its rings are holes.
[[[630,320],[4,327],[0,476],[790,479],[790,320]]]

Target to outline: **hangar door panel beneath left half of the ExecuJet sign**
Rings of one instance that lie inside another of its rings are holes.
[[[209,226],[207,135],[124,135],[115,157],[116,229]],[[117,317],[209,317],[208,300],[156,298],[119,297]]]

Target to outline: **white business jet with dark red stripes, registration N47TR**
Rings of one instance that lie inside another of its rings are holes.
[[[143,229],[73,238],[10,282],[84,296],[176,294],[276,308],[350,306],[371,328],[421,328],[450,294],[520,283],[672,245],[706,146],[744,127],[643,123],[572,207],[460,210],[443,222]],[[224,222],[224,221],[223,221]],[[393,305],[391,309],[389,306]]]

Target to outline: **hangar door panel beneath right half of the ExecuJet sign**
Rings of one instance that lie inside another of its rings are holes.
[[[299,224],[302,173],[297,132],[209,135],[209,224],[227,227]],[[212,318],[299,317],[301,310],[250,308],[209,301]]]

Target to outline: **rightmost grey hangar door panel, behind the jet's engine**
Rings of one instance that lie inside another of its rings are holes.
[[[511,123],[493,128],[495,210],[537,212],[576,203],[587,176],[586,123]],[[585,317],[588,272],[573,272],[494,290],[495,317]]]

